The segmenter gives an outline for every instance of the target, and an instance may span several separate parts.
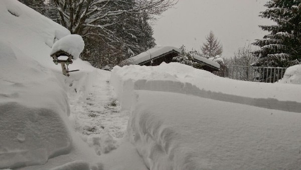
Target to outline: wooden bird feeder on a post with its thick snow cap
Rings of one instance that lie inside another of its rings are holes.
[[[72,64],[73,60],[79,58],[84,47],[85,43],[80,35],[68,35],[53,44],[50,56],[53,58],[55,64],[61,63],[63,74],[69,76],[69,72],[79,71],[69,71],[68,65]]]

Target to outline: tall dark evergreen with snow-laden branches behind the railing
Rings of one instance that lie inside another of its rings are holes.
[[[270,0],[267,10],[260,13],[261,18],[274,21],[276,25],[259,26],[270,32],[253,45],[260,50],[254,54],[259,57],[253,66],[289,67],[301,61],[301,1]]]

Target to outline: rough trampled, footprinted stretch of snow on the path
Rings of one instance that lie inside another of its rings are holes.
[[[110,73],[97,72],[92,77],[90,87],[85,87],[86,97],[73,88],[80,81],[71,83],[70,120],[75,131],[100,155],[118,147],[129,114],[119,112],[119,103],[109,82]]]

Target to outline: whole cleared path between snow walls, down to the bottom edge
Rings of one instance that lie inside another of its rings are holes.
[[[93,74],[91,87],[86,99],[80,92],[75,93],[73,82],[70,101],[70,120],[74,129],[98,155],[103,169],[147,170],[143,159],[126,136],[128,111],[119,111],[110,72],[98,71]],[[91,79],[90,79],[91,80]]]

